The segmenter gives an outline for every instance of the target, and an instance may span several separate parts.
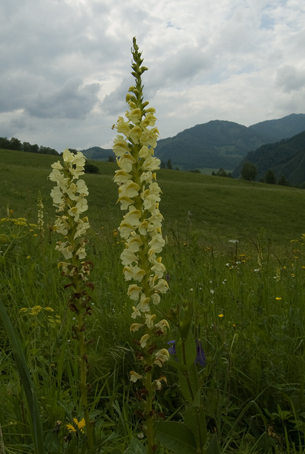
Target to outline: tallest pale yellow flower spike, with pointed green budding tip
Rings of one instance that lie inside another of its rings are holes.
[[[125,240],[125,249],[120,256],[123,273],[127,281],[133,282],[128,288],[128,296],[134,304],[132,318],[137,322],[132,323],[130,331],[141,332],[140,340],[135,343],[139,348],[136,359],[142,370],[140,373],[132,370],[130,379],[132,382],[139,380],[144,386],[138,396],[144,407],[147,452],[152,454],[156,448],[153,425],[157,416],[153,400],[162,381],[166,382],[165,376],[158,376],[154,369],[156,366],[161,368],[169,359],[167,349],[159,350],[156,345],[156,338],[165,335],[169,325],[165,319],[156,323],[153,307],[160,303],[160,294],[167,292],[168,284],[163,278],[165,266],[157,256],[165,244],[161,233],[163,217],[159,211],[161,189],[154,173],[160,165],[160,160],[154,157],[159,132],[155,127],[155,109],[147,107],[149,102],[143,100],[141,76],[147,68],[141,66],[143,59],[135,38],[132,54],[135,86],[129,88],[126,96],[129,106],[126,120],[119,117],[115,124],[118,134],[113,151],[119,170],[115,172],[114,181],[119,186],[120,208],[128,210],[118,230]]]

